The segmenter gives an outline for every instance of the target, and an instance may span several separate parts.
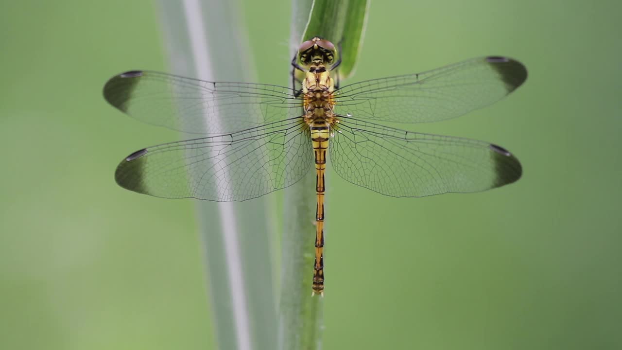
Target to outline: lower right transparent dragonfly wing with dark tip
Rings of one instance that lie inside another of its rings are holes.
[[[328,147],[333,169],[387,196],[477,192],[521,177],[518,159],[494,144],[340,118]]]

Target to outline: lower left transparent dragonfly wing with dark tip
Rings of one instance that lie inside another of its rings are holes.
[[[301,123],[293,118],[141,149],[121,161],[114,178],[121,187],[157,197],[219,202],[260,197],[312,171],[311,139]]]

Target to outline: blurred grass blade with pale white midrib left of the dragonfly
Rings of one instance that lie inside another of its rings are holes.
[[[205,80],[254,80],[237,1],[162,0],[161,6],[173,72]],[[197,201],[211,314],[220,349],[276,348],[266,220],[269,201]]]

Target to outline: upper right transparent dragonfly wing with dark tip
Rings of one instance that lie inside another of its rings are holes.
[[[397,123],[445,120],[498,101],[526,78],[521,62],[481,57],[429,72],[347,85],[336,92],[335,111]]]

